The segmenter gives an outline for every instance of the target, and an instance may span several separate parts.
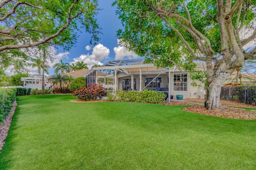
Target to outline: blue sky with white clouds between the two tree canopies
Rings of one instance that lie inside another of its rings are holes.
[[[51,67],[60,60],[66,63],[75,63],[77,61],[84,61],[89,68],[94,64],[104,64],[106,61],[116,59],[130,59],[137,58],[138,55],[126,50],[122,45],[118,45],[118,38],[116,31],[122,29],[122,23],[116,15],[116,6],[112,6],[114,0],[99,0],[99,11],[97,18],[98,25],[102,28],[102,35],[99,35],[100,41],[96,46],[90,44],[91,35],[82,31],[79,33],[80,37],[77,39],[75,47],[70,51],[63,51],[63,49],[53,49],[52,57],[55,58],[54,63],[48,63]],[[31,74],[35,69],[30,68]],[[54,74],[54,69],[50,69],[50,74]]]

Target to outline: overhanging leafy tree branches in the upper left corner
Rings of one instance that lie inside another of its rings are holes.
[[[100,28],[94,18],[98,0],[2,0],[0,2],[0,51],[76,43],[79,25],[98,41]],[[14,53],[14,52],[13,52]]]

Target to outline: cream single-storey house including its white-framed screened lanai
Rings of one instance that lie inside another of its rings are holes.
[[[204,98],[200,92],[204,88],[190,85],[190,72],[180,72],[176,67],[157,68],[154,64],[143,62],[144,59],[108,61],[100,67],[91,68],[83,76],[86,77],[86,84],[97,84],[98,70],[112,70],[113,73],[108,76],[114,76],[114,92],[165,87],[174,98],[176,95],[183,95],[184,98]],[[200,63],[197,63],[195,70],[202,70]]]

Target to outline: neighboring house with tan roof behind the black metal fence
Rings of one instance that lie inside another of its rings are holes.
[[[238,78],[238,83],[256,84],[256,74],[244,73],[241,74],[242,78]],[[233,72],[225,81],[224,84],[236,83],[236,72]]]

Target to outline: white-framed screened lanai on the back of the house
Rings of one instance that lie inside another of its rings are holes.
[[[83,76],[86,77],[86,84],[98,84],[98,71],[107,72],[114,77],[113,92],[116,90],[142,91],[145,88],[155,90],[157,87],[167,87],[170,91],[170,69],[157,68],[154,64],[145,64],[144,59],[108,61],[100,67],[91,68]],[[175,70],[172,68],[172,70]],[[166,78],[160,77],[163,75]],[[151,75],[151,76],[149,76]],[[148,78],[149,77],[149,78]],[[170,92],[168,93],[170,94]]]

